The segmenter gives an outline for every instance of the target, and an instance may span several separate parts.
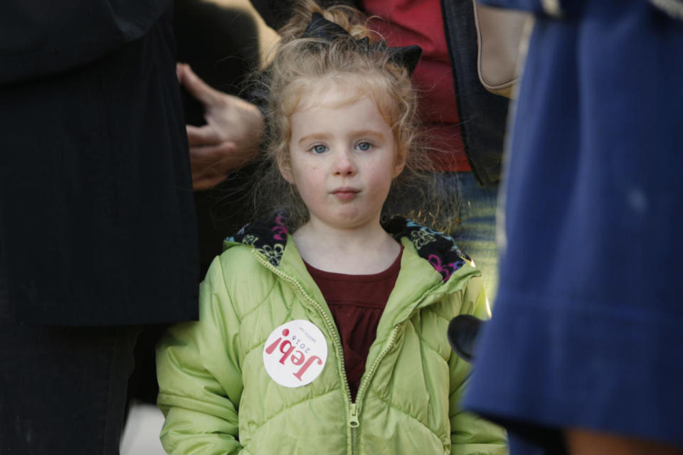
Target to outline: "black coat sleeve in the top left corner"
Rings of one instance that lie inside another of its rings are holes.
[[[171,0],[2,0],[0,84],[63,73],[142,38]],[[170,18],[169,18],[170,23]]]

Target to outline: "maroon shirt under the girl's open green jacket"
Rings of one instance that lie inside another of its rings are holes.
[[[388,269],[369,275],[324,272],[304,261],[327,301],[342,337],[344,368],[353,400],[356,400],[356,392],[361,385],[368,351],[377,335],[379,318],[396,284],[402,255],[403,245]]]

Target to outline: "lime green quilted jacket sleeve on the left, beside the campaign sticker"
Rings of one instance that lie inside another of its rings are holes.
[[[217,258],[199,294],[199,321],[167,331],[157,348],[157,405],[169,454],[236,454],[243,390],[240,320]]]

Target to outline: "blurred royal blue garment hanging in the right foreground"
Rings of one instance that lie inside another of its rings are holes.
[[[683,21],[576,4],[531,34],[465,405],[683,447]]]

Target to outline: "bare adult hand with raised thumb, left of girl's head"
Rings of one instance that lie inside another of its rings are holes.
[[[263,114],[258,107],[206,84],[189,65],[176,65],[178,80],[204,106],[206,125],[186,125],[192,187],[204,190],[226,179],[258,153]]]

